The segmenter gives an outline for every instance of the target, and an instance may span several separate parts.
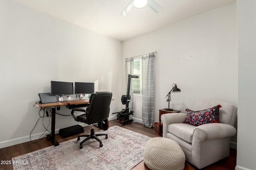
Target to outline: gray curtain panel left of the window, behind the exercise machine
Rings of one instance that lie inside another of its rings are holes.
[[[125,60],[125,94],[127,93],[127,82],[128,82],[128,74],[133,74],[133,62],[134,59],[126,59]],[[133,84],[131,78],[131,86],[130,86],[130,103],[129,103],[129,111],[133,110]]]

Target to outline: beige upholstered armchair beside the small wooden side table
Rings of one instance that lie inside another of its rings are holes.
[[[186,160],[201,169],[222,158],[229,156],[230,139],[236,135],[234,122],[237,107],[232,104],[202,100],[196,102],[194,111],[200,111],[220,104],[220,123],[209,123],[199,126],[182,123],[187,113],[167,113],[161,116],[163,137],[180,144]]]

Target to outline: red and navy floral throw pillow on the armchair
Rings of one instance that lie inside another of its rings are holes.
[[[183,123],[188,123],[194,126],[204,125],[206,123],[219,123],[220,107],[222,106],[217,105],[201,111],[186,109],[187,116]]]

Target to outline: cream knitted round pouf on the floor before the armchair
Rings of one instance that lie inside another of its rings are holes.
[[[172,139],[154,137],[144,150],[144,163],[151,170],[183,170],[185,154],[180,145]]]

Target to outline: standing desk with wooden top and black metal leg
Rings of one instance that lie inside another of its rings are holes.
[[[88,104],[89,99],[86,100],[68,100],[62,102],[54,102],[54,103],[44,103],[38,104],[40,107],[50,107],[52,109],[52,123],[51,123],[51,134],[47,135],[48,139],[54,144],[54,146],[58,146],[59,143],[55,139],[55,118],[56,118],[56,106],[67,106],[68,103],[70,105],[78,105],[78,104]]]

